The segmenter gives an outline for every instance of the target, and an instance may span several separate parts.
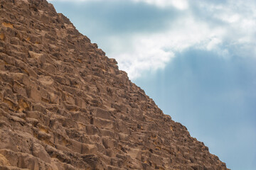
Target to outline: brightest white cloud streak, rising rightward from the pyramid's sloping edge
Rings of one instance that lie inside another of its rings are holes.
[[[132,38],[115,41],[122,50],[110,54],[119,62],[119,68],[126,71],[131,79],[140,77],[145,71],[164,69],[166,64],[188,47],[213,50],[221,43],[225,34],[222,28],[210,28],[206,23],[193,18],[183,18],[172,23],[169,30],[155,34],[134,35]],[[127,40],[130,40],[127,46]],[[125,51],[124,48],[129,48]]]

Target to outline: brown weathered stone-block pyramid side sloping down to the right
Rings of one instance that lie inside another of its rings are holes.
[[[227,169],[52,4],[0,5],[0,169]]]

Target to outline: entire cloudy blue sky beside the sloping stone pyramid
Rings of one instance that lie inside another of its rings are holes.
[[[228,168],[255,170],[255,0],[49,2]]]

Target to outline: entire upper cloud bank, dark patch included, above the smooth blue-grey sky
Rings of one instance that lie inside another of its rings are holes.
[[[164,69],[177,52],[191,48],[227,58],[255,56],[254,1],[75,1],[82,4],[71,21],[84,24],[78,29],[131,79]]]

